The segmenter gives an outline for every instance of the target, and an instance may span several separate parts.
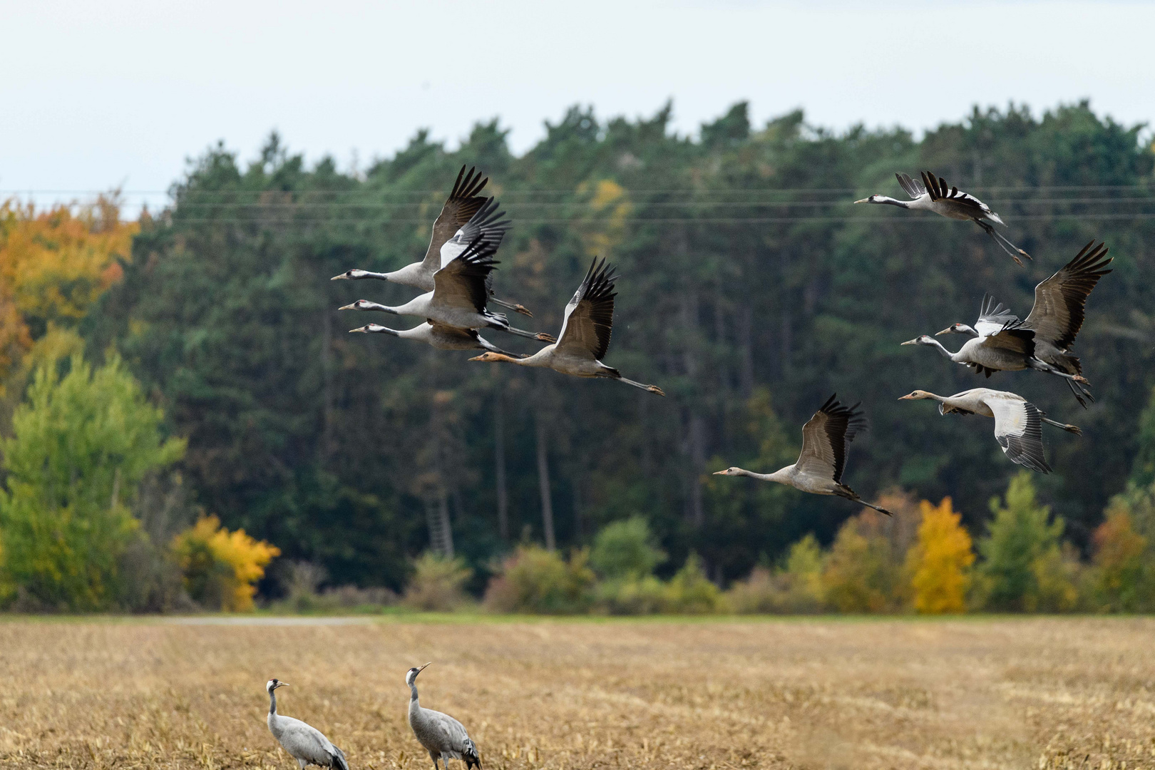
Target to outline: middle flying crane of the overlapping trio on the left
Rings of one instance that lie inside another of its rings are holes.
[[[460,329],[498,329],[542,342],[553,337],[539,331],[526,331],[509,326],[500,313],[485,309],[489,299],[486,281],[498,264],[493,259],[494,246],[478,237],[460,256],[433,274],[433,291],[420,294],[404,305],[390,307],[366,299],[344,305],[342,311],[380,311],[394,315],[419,315],[432,323]]]

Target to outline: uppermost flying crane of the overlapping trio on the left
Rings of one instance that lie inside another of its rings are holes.
[[[463,175],[464,179],[462,179]],[[509,230],[509,220],[504,219],[505,214],[497,210],[497,202],[492,197],[485,199],[478,195],[487,181],[489,178],[480,179],[480,174],[475,169],[470,169],[469,174],[465,174],[465,166],[461,167],[457,181],[453,185],[453,192],[449,193],[449,199],[441,207],[441,214],[433,223],[433,234],[429,249],[425,252],[425,259],[420,262],[407,264],[392,272],[345,270],[333,276],[330,281],[375,278],[403,286],[412,286],[422,291],[433,291],[433,274],[448,264],[449,260],[461,255],[472,240],[480,238],[482,242],[492,244],[493,249],[497,251],[506,231]],[[523,315],[534,315],[523,305],[493,297],[492,282],[486,284],[486,291],[490,294],[490,301],[494,305],[507,307]]]

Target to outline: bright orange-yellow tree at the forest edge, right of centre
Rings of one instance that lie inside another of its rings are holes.
[[[919,508],[918,541],[907,553],[915,610],[927,614],[963,612],[970,566],[975,563],[970,534],[952,509],[951,498],[942,498],[937,507],[923,500]]]

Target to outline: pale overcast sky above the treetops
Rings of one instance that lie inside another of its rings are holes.
[[[1146,2],[39,0],[6,3],[0,30],[0,190],[40,201],[163,190],[217,140],[249,158],[274,128],[348,167],[498,117],[521,152],[574,103],[672,98],[679,133],[740,99],[835,129],[1009,100],[1155,118]]]

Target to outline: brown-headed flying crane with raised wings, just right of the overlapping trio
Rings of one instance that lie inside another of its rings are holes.
[[[586,278],[578,286],[573,299],[566,305],[561,334],[552,345],[546,345],[532,356],[514,358],[506,353],[486,352],[471,361],[507,361],[519,366],[553,369],[576,377],[608,377],[664,396],[657,386],[648,386],[621,376],[621,372],[602,362],[610,350],[613,330],[613,268],[597,257],[586,271]]]

